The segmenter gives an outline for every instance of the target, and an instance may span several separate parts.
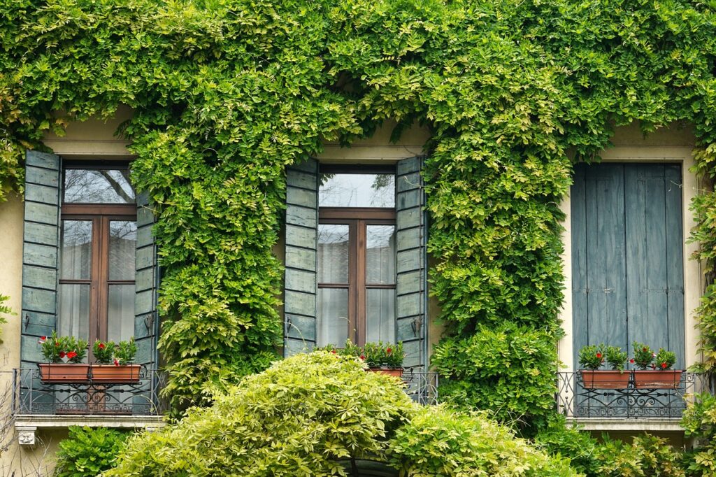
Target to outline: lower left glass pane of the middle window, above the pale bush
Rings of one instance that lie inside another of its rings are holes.
[[[316,322],[319,346],[343,346],[348,339],[348,289],[318,289],[318,321]]]

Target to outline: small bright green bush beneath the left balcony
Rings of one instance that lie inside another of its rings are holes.
[[[69,436],[59,442],[57,477],[95,477],[115,466],[128,433],[107,428],[69,427]]]

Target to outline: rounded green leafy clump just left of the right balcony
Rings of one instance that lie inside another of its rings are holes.
[[[441,375],[441,400],[521,424],[552,413],[556,360],[553,334],[509,322],[478,327],[469,338],[445,339],[432,357]]]

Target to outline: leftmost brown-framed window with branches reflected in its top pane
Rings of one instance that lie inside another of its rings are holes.
[[[137,212],[127,164],[66,163],[62,175],[58,334],[134,334]]]

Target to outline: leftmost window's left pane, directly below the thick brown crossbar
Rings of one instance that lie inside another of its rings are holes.
[[[92,265],[92,221],[62,221],[60,278],[89,279]]]

